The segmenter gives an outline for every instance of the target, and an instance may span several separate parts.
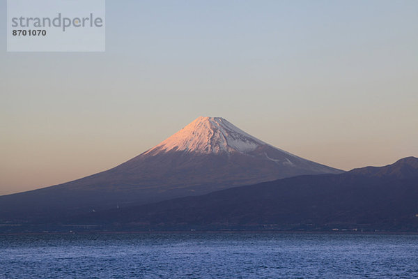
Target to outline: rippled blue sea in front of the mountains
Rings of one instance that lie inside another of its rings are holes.
[[[418,278],[418,235],[0,235],[0,278]]]

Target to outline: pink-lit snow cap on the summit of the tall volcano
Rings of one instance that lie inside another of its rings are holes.
[[[151,151],[221,153],[253,151],[265,142],[258,140],[222,117],[200,116]]]

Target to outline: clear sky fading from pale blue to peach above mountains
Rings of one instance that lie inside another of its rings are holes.
[[[198,116],[345,170],[418,157],[418,1],[106,4],[106,52],[6,52],[0,21],[0,195],[115,167]]]

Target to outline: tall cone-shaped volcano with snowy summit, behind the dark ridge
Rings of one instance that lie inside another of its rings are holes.
[[[341,173],[258,140],[219,117],[199,117],[105,172],[0,197],[0,220],[146,204],[300,174]]]

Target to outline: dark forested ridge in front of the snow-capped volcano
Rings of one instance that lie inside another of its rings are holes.
[[[417,232],[418,158],[90,213],[68,222],[108,229],[267,227]]]

